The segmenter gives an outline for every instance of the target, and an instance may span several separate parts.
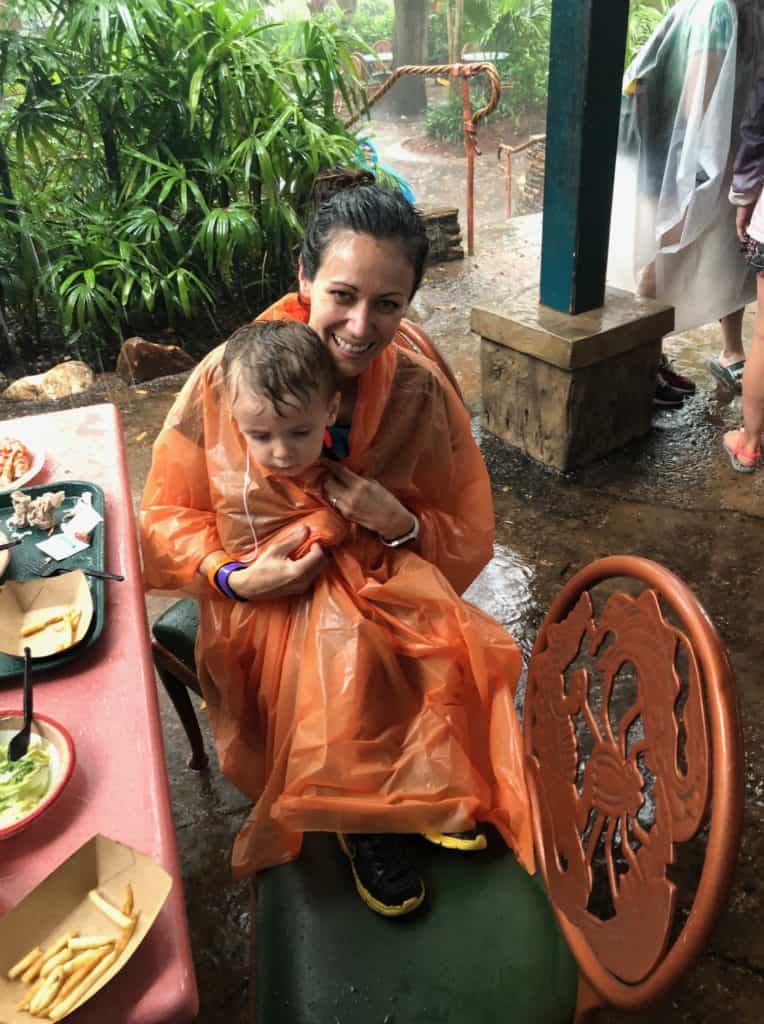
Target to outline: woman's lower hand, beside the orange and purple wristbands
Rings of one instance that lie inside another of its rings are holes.
[[[272,600],[306,593],[327,564],[327,556],[320,544],[311,545],[300,558],[289,557],[307,536],[307,526],[290,530],[251,565],[235,569],[228,577],[228,586],[235,594],[247,601]]]

